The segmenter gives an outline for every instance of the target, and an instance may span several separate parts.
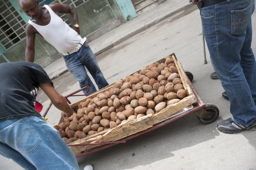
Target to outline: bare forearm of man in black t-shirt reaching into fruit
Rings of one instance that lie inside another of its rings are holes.
[[[40,84],[39,86],[42,88],[45,94],[49,97],[49,99],[52,101],[55,107],[65,112],[67,117],[70,117],[71,115],[73,115],[73,109],[69,107],[66,99],[62,95],[60,95],[58,92],[56,92],[55,88],[52,86],[51,83]]]

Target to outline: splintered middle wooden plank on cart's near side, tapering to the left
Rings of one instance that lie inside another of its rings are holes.
[[[111,129],[102,135],[101,138],[97,139],[95,143],[117,141],[137,132],[151,128],[152,126],[153,124],[151,114],[140,117],[138,119],[132,119]]]

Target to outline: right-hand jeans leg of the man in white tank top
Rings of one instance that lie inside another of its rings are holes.
[[[88,69],[88,71],[92,75],[99,90],[102,89],[103,87],[106,87],[108,85],[108,82],[104,78],[103,73],[101,72],[100,67],[97,63],[97,60],[95,58],[95,55],[93,54],[87,42],[84,42],[84,45],[78,51],[78,55],[82,63],[85,65],[85,67]]]

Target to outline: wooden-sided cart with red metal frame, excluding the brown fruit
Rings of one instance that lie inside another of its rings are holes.
[[[106,129],[99,133],[69,143],[68,146],[72,152],[76,154],[76,157],[97,152],[119,143],[125,143],[129,139],[162,127],[190,113],[195,113],[197,119],[203,124],[212,123],[218,118],[219,109],[215,105],[205,104],[196,92],[196,89],[191,83],[193,75],[190,72],[185,72],[183,70],[180,62],[177,61],[175,54],[171,54],[170,56],[174,60],[180,79],[182,80],[182,84],[188,96],[180,100],[178,103],[168,105],[154,115],[150,114],[138,119],[129,120],[121,123],[113,129]],[[165,60],[163,58],[156,62],[164,63],[164,61]],[[140,70],[137,72],[140,72]],[[70,106],[77,111],[78,104],[85,101],[87,98],[96,97],[100,92],[108,91],[114,84],[115,83],[108,85],[100,91],[70,104]],[[79,91],[81,91],[81,89]],[[72,93],[72,95],[75,93],[76,92]],[[68,97],[72,95],[68,95]],[[59,123],[63,121],[64,119],[61,117]]]

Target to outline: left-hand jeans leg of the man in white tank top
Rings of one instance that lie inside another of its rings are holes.
[[[79,50],[80,51],[80,50]],[[84,68],[84,64],[81,62],[77,53],[64,56],[66,66],[68,70],[73,74],[76,80],[79,82],[80,87],[89,86],[92,93],[96,92],[96,88],[92,83],[92,80],[87,75]],[[87,89],[83,90],[84,94],[90,94]]]

